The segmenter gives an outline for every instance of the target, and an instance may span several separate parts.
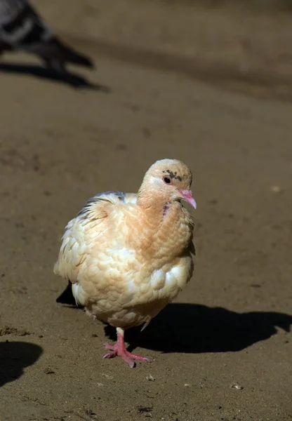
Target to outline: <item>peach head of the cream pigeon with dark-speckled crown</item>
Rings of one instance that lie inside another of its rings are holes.
[[[139,196],[142,192],[161,198],[164,203],[185,200],[194,208],[196,201],[191,191],[192,172],[185,163],[177,159],[156,161],[145,174]]]

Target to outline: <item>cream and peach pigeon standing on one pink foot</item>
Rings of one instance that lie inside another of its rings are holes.
[[[145,328],[192,277],[194,221],[181,203],[197,208],[191,184],[185,163],[161,159],[138,194],[97,194],[67,224],[54,273],[89,316],[117,329],[104,358],[150,361],[128,352],[124,331]]]

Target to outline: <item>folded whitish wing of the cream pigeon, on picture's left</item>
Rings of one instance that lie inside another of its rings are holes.
[[[106,267],[110,259],[106,255],[106,245],[108,241],[111,243],[109,232],[115,225],[114,220],[119,223],[120,203],[124,203],[124,194],[120,192],[105,192],[94,196],[87,201],[77,217],[68,223],[62,236],[54,273],[71,281],[77,304],[86,305],[90,297],[81,286],[85,272],[91,293],[98,290],[99,283],[107,283],[106,279],[100,279],[102,270],[98,269],[98,262],[101,259],[100,263]]]

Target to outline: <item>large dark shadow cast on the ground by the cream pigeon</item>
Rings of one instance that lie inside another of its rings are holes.
[[[57,302],[74,305],[71,287]],[[223,307],[172,303],[168,304],[142,332],[126,331],[129,350],[136,347],[160,352],[237,352],[277,333],[277,327],[290,331],[292,315],[278,312],[237,313]],[[105,326],[105,335],[116,340],[116,331]]]

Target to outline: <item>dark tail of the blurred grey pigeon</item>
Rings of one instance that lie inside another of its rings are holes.
[[[93,62],[86,55],[79,54],[73,48],[60,42],[55,36],[39,46],[39,55],[46,62],[59,60],[60,62],[93,68]]]

